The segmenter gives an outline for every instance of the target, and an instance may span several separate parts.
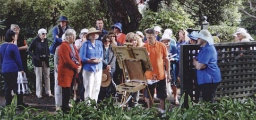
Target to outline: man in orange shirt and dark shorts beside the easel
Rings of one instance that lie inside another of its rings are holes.
[[[165,112],[164,100],[167,97],[165,80],[167,80],[167,82],[170,82],[171,80],[170,62],[169,62],[168,50],[166,46],[163,43],[155,40],[155,38],[156,38],[156,34],[154,29],[148,29],[146,31],[146,39],[148,43],[146,43],[143,47],[147,48],[149,59],[153,67],[153,72],[147,71],[145,72],[145,75],[146,75],[146,78],[149,80],[151,80],[153,76],[156,76],[155,78],[157,78],[157,80],[160,80],[152,85],[148,85],[148,88],[152,98],[154,96],[154,88],[156,88],[156,94],[157,94],[156,97],[160,99],[161,112],[164,113]],[[164,63],[167,69],[167,78],[165,78]],[[145,93],[145,95],[147,98],[148,108],[150,108],[151,106],[153,106],[153,104],[151,104],[148,94]]]

